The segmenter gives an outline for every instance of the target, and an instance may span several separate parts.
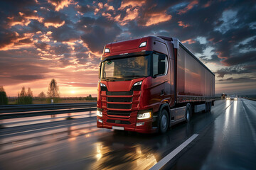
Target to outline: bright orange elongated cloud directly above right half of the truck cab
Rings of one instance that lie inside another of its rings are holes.
[[[171,15],[166,14],[166,12],[150,13],[146,18],[149,19],[144,26],[151,26],[171,20]]]

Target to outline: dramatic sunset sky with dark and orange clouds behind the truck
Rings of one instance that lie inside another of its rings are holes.
[[[215,92],[256,94],[255,1],[1,0],[0,86],[97,94],[105,44],[176,37],[215,73]]]

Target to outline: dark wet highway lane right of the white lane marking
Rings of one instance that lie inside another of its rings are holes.
[[[168,169],[256,169],[256,101],[229,103],[201,140]]]

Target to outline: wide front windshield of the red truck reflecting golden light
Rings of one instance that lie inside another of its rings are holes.
[[[101,79],[147,77],[150,74],[150,55],[126,57],[102,62]]]

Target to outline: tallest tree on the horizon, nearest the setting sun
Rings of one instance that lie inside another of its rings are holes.
[[[54,103],[58,103],[58,101],[60,100],[60,91],[59,91],[57,81],[55,81],[55,79],[52,79],[50,81],[47,95],[48,95],[48,99],[47,99],[48,103],[50,103],[51,99],[53,99]]]

